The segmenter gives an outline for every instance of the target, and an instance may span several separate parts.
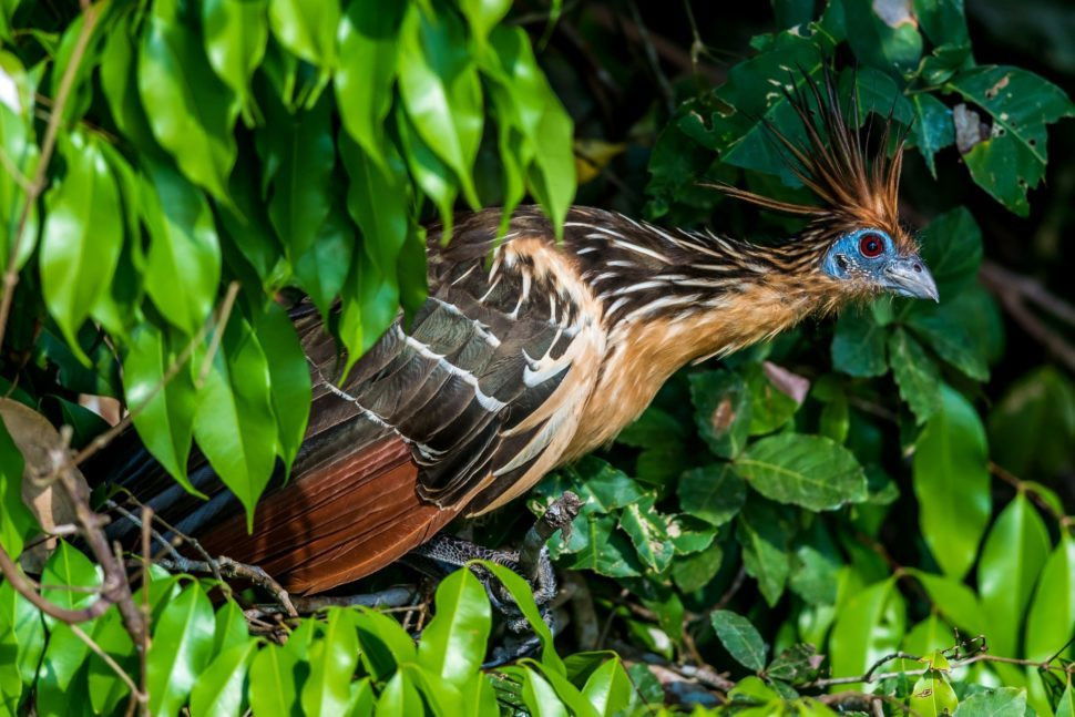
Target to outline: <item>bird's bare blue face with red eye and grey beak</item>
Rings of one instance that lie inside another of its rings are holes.
[[[829,248],[821,270],[835,279],[867,281],[898,296],[938,300],[936,284],[922,257],[900,256],[883,229],[848,232]]]

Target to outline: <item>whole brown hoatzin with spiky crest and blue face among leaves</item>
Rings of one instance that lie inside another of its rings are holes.
[[[207,502],[144,462],[114,479],[208,550],[289,591],[325,591],[607,443],[690,361],[882,291],[936,299],[898,217],[902,144],[868,152],[831,82],[807,78],[787,99],[805,141],[772,135],[818,205],[720,188],[808,218],[790,240],[758,246],[585,207],[567,213],[559,242],[535,207],[502,238],[499,209],[460,217],[447,244],[429,232],[424,306],[345,380],[319,315],[295,313],[315,387],[309,429],[253,533],[204,461],[191,479]]]

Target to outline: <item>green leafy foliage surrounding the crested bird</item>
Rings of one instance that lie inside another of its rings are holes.
[[[1075,715],[1075,140],[1069,122],[1046,134],[1073,113],[1075,13],[508,4],[3,3],[6,392],[72,427],[74,463],[106,428],[79,395],[121,398],[176,480],[196,441],[249,509],[309,402],[277,293],[326,315],[339,299],[330,326],[357,356],[421,300],[422,222],[524,193],[553,217],[574,197],[779,239],[795,225],[697,183],[799,192],[755,117],[796,132],[771,81],[819,57],[856,64],[844,92],[910,127],[904,209],[941,303],[882,299],[689,368],[616,444],[543,482],[535,511],[565,489],[587,501],[554,545],[567,659],[534,618],[540,659],[480,672],[504,636],[467,572],[441,583],[416,648],[368,610],[270,644],[243,617],[253,594],[222,602],[214,581],[154,567],[147,590],[132,574],[144,664],[115,606],[72,626],[0,585],[4,708],[122,713],[141,692],[131,705],[196,715]],[[38,532],[19,490],[32,461],[3,431],[0,451],[17,555]],[[502,543],[520,513],[461,530]],[[61,543],[43,595],[104,594],[91,553]],[[898,651],[928,660],[856,679]]]

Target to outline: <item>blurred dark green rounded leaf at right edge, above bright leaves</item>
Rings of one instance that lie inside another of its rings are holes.
[[[993,459],[1016,475],[1075,468],[1075,385],[1051,366],[1020,378],[990,412]]]

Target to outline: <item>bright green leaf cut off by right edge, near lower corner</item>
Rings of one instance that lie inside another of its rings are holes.
[[[1042,569],[1025,634],[1023,654],[1035,660],[1048,659],[1075,634],[1075,539],[1067,532]]]

